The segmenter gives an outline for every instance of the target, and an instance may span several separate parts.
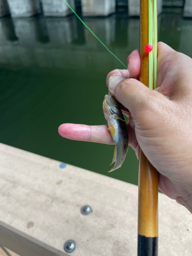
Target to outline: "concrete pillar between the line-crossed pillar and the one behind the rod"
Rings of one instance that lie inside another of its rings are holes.
[[[108,16],[115,12],[115,0],[81,0],[83,16]]]

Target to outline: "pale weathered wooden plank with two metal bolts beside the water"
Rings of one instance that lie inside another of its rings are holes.
[[[136,255],[137,186],[4,144],[0,163],[2,246],[20,256],[68,255],[63,245],[73,239],[74,256]],[[159,255],[192,255],[191,221],[159,194]]]

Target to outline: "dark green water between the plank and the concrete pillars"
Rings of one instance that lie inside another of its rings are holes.
[[[114,14],[84,22],[126,64],[139,48],[139,19]],[[61,123],[105,124],[106,75],[121,64],[71,15],[0,19],[0,142],[137,184],[138,161],[129,148],[122,167],[108,174],[114,146],[70,141]],[[192,57],[192,20],[158,18],[159,40]]]

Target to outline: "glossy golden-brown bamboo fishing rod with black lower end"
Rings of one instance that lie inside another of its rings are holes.
[[[145,46],[149,44],[151,17],[149,16],[150,4],[157,8],[156,0],[140,0],[140,58],[141,69],[139,80],[150,87],[150,75],[152,75],[152,86],[154,82],[153,70],[149,70],[149,55],[145,52]],[[153,10],[155,11],[155,10]],[[157,9],[156,9],[157,15]],[[157,17],[156,17],[157,18]],[[153,22],[154,23],[154,20]],[[155,32],[157,32],[157,25]],[[157,35],[155,35],[157,40]],[[156,47],[156,46],[155,46]],[[157,49],[155,58],[157,59]],[[152,68],[154,69],[154,68]],[[152,72],[152,74],[150,73]],[[147,160],[141,148],[139,148],[139,178],[138,178],[138,256],[158,255],[158,172]]]

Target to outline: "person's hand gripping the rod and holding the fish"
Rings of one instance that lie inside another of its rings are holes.
[[[129,144],[137,156],[139,145],[158,170],[160,190],[192,213],[192,59],[160,42],[153,91],[133,79],[139,76],[139,50],[130,54],[127,65],[127,70],[110,72],[107,84],[130,117]],[[106,125],[62,124],[59,134],[113,144]]]

